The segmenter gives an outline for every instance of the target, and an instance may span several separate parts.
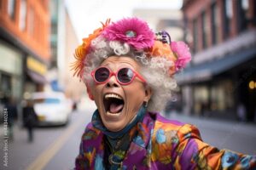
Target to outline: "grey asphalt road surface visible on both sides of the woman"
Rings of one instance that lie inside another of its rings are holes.
[[[94,108],[74,111],[66,127],[36,128],[32,144],[27,143],[26,129],[15,127],[15,140],[9,141],[8,144],[8,167],[3,167],[1,163],[0,169],[72,169],[75,156],[79,153],[81,134],[85,125],[90,122],[93,111]],[[195,124],[201,131],[202,139],[219,149],[256,154],[255,125],[180,116],[174,113],[169,114],[168,117]],[[3,142],[1,144],[3,148]]]

